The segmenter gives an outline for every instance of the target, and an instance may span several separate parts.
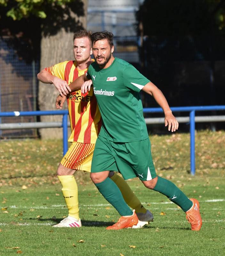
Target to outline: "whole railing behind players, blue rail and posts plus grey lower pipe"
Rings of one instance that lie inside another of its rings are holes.
[[[190,172],[192,175],[195,174],[195,123],[196,122],[224,122],[225,116],[195,116],[196,111],[214,111],[214,110],[225,110],[224,106],[194,106],[194,107],[174,107],[171,108],[173,112],[189,112],[189,117],[178,117],[178,122],[180,123],[189,123],[190,124]],[[162,113],[161,108],[144,108],[144,113]],[[63,154],[66,154],[68,149],[68,130],[67,127],[70,124],[67,122],[67,110],[54,110],[54,111],[30,111],[30,112],[0,112],[0,117],[9,117],[9,116],[42,116],[42,115],[63,115],[62,123],[49,122],[49,123],[32,123],[32,124],[0,124],[0,130],[8,129],[19,129],[21,128],[51,128],[51,127],[63,127]],[[145,118],[146,124],[161,124],[164,123],[164,118]]]

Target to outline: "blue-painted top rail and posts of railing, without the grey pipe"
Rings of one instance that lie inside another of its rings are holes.
[[[190,116],[190,172],[195,174],[195,112],[196,111],[213,111],[225,110],[223,106],[194,106],[194,107],[172,107],[173,112],[189,112]],[[144,108],[144,113],[162,113],[161,108]],[[67,110],[52,110],[52,111],[14,111],[14,112],[0,112],[0,117],[10,116],[47,116],[47,115],[63,115],[63,154],[65,155],[68,149],[68,131],[67,131]]]

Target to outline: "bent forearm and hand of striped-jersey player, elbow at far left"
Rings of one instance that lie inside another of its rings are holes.
[[[40,73],[37,74],[37,79],[45,84],[54,84],[61,96],[67,95],[69,92],[71,92],[66,81],[57,76],[51,75],[45,69],[42,69]]]

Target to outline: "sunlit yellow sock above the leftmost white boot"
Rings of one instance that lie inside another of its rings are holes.
[[[62,193],[69,210],[69,216],[79,220],[78,188],[74,175],[57,176],[62,184]]]

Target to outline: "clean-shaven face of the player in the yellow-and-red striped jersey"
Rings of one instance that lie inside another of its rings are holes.
[[[88,60],[91,54],[91,42],[88,37],[74,39],[74,58],[77,62]]]

